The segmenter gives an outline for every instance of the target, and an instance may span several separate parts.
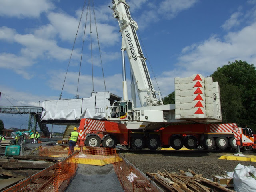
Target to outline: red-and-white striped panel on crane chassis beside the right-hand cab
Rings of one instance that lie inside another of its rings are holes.
[[[224,124],[210,124],[210,132],[212,133],[234,133],[236,139],[240,138],[240,133],[237,127],[233,128],[232,123],[224,123]]]

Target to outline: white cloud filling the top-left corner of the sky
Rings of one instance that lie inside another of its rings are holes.
[[[0,15],[38,18],[42,12],[54,8],[50,0],[0,0]]]

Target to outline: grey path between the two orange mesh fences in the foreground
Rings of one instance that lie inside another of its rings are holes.
[[[123,192],[112,164],[95,166],[78,164],[76,176],[70,182],[65,192]]]

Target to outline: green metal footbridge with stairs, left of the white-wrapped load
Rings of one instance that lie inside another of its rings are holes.
[[[42,107],[33,106],[0,106],[0,113],[9,114],[29,114],[28,129],[36,131],[37,124],[45,137],[50,136],[50,132],[46,124],[40,122],[42,115]]]

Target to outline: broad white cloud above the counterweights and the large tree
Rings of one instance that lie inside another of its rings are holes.
[[[174,91],[175,77],[188,77],[198,73],[209,76],[218,67],[228,64],[228,61],[243,60],[256,64],[255,34],[256,22],[238,32],[228,33],[223,40],[215,35],[204,42],[185,47],[176,68],[164,71],[156,77],[162,96]]]

